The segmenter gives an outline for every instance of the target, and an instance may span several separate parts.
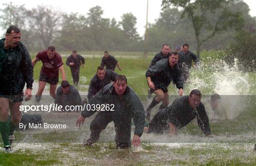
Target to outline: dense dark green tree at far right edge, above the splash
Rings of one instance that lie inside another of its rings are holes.
[[[245,24],[234,33],[234,40],[226,49],[225,60],[233,66],[236,59],[240,70],[256,71],[256,17],[249,15],[250,9],[244,2],[233,4],[233,9],[242,11]]]

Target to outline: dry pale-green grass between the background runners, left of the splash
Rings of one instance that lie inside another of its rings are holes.
[[[64,69],[66,73],[66,79],[72,83],[73,79],[71,76],[70,68],[65,64],[66,58],[63,57]],[[136,60],[127,59],[127,58],[119,58],[119,64],[122,68],[119,71],[116,68],[116,72],[119,74],[123,74],[128,77],[128,84],[132,87],[137,94],[146,94],[147,91],[147,83],[145,73],[148,68],[148,65],[151,61],[152,57],[148,58],[139,58]],[[89,85],[91,78],[96,74],[98,66],[101,64],[101,58],[86,58],[85,59],[85,67],[80,69],[80,78],[82,76],[86,77],[87,81],[82,83],[80,80],[80,84]],[[38,61],[34,68],[34,79],[39,79],[40,70],[42,67],[41,61]],[[130,78],[130,79],[129,79]],[[59,74],[59,80],[61,80],[61,75]],[[87,89],[79,89],[79,90],[87,90]]]

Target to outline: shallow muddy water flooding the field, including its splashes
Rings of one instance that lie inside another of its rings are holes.
[[[205,164],[212,158],[219,160],[219,162],[227,158],[242,158],[241,160],[245,160],[244,162],[247,163],[249,162],[246,161],[248,158],[256,158],[256,153],[253,151],[254,143],[256,143],[256,114],[251,114],[249,117],[245,116],[248,112],[252,112],[252,108],[256,108],[255,97],[254,100],[248,100],[247,98],[256,95],[255,90],[251,89],[255,85],[249,83],[248,74],[238,72],[236,69],[223,68],[216,70],[211,75],[205,74],[201,77],[197,77],[197,75],[198,71],[192,70],[185,94],[188,95],[193,88],[204,89],[203,94],[207,95],[213,92],[218,93],[222,97],[220,103],[222,110],[228,116],[228,119],[214,119],[213,116],[211,117],[213,113],[210,110],[209,103],[207,104],[209,96],[204,96],[202,101],[208,111],[210,125],[212,126],[212,136],[210,138],[205,137],[198,129],[197,122],[193,121],[192,126],[194,127],[184,127],[178,131],[177,136],[170,137],[169,135],[144,133],[141,137],[143,145],[141,148],[121,150],[115,149],[114,125],[111,122],[106,130],[102,131],[99,143],[95,144],[92,149],[82,149],[80,143],[89,138],[90,123],[96,114],[87,118],[82,127],[78,128],[75,126],[75,122],[80,112],[29,112],[28,114],[41,114],[46,123],[66,124],[67,127],[66,129],[18,131],[21,136],[14,144],[13,149],[14,151],[29,149],[35,153],[48,151],[52,148],[63,149],[56,153],[59,156],[66,155],[62,158],[64,165],[135,165],[138,163],[142,165],[159,163],[161,165],[170,165],[170,163],[180,165],[179,162],[187,162],[186,165],[189,165],[193,163]],[[37,89],[37,85],[38,83],[35,82],[34,89]],[[88,88],[83,85],[80,86]],[[36,94],[36,90],[32,92],[33,95]],[[81,95],[86,94],[85,91],[81,92]],[[43,95],[39,104],[53,103],[53,99],[49,96],[48,86],[46,86]],[[170,97],[170,101],[173,101],[172,97]],[[253,101],[253,103],[248,101]],[[150,101],[143,102],[145,109],[149,103]],[[23,103],[23,105],[33,104],[35,104],[34,98]],[[248,105],[250,106],[248,107]],[[156,106],[153,114],[157,111],[158,107]],[[241,122],[244,126],[240,125]],[[223,125],[228,125],[227,128],[230,130],[227,132],[219,130]],[[236,130],[239,130],[239,132]],[[57,137],[57,139],[54,137]],[[28,142],[33,143],[29,143],[29,146],[27,146]],[[67,146],[59,145],[63,142],[69,144]],[[71,146],[80,150],[72,149]],[[91,155],[87,153],[91,153]],[[84,154],[87,154],[87,156],[84,156]],[[84,157],[79,157],[82,155]],[[173,161],[177,161],[177,163],[172,163]]]

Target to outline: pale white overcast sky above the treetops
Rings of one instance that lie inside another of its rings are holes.
[[[162,0],[148,0],[148,22],[154,23],[159,17]],[[256,0],[244,0],[250,8],[250,15],[256,16]],[[137,32],[142,36],[146,25],[146,2],[147,0],[3,0],[0,3],[0,9],[3,9],[3,3],[13,5],[25,4],[25,8],[31,9],[37,5],[49,5],[61,9],[64,12],[77,12],[86,15],[90,8],[96,5],[103,9],[104,18],[115,17],[118,21],[124,13],[131,12],[137,17]],[[0,30],[3,34],[6,30]]]

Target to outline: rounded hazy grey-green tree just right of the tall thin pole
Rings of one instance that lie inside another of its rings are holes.
[[[169,44],[174,51],[175,47],[184,43],[194,43],[191,22],[188,18],[180,19],[182,11],[168,8],[160,12],[155,24],[148,28],[149,51],[159,51],[163,44]],[[191,44],[191,49],[194,49]]]

